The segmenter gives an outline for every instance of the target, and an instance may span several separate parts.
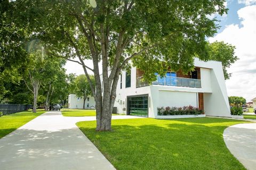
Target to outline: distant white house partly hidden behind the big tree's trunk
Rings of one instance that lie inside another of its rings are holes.
[[[83,97],[77,97],[74,94],[68,95],[68,108],[79,108],[82,109],[84,104]],[[94,97],[88,96],[85,100],[85,108],[95,108],[95,100]]]

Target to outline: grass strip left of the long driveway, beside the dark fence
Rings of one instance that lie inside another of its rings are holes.
[[[31,111],[24,111],[0,117],[0,139],[44,112],[32,113]]]

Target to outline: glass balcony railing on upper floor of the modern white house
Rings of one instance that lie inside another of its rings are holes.
[[[188,79],[171,76],[161,77],[160,75],[157,75],[157,80],[152,82],[152,84],[161,86],[201,88],[201,80],[199,79]],[[143,87],[148,85],[149,83],[142,81],[142,77],[137,78],[136,87]]]

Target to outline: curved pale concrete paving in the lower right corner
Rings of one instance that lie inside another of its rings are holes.
[[[223,133],[224,141],[239,162],[247,169],[256,169],[256,123],[229,126]]]

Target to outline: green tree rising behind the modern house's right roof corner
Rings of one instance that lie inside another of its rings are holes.
[[[239,59],[235,56],[235,49],[235,46],[224,43],[223,41],[215,41],[209,44],[210,60],[222,62],[223,73],[226,80],[231,77],[231,73],[228,73],[227,68]]]

